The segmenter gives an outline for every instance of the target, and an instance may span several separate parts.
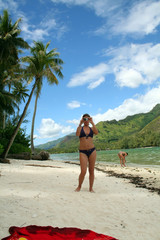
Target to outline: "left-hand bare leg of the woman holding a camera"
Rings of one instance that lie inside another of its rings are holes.
[[[88,164],[88,157],[84,153],[79,153],[79,158],[80,158],[80,167],[81,167],[81,172],[79,175],[79,184],[78,187],[76,188],[76,192],[79,192],[81,190],[82,183],[84,181],[84,177],[87,172],[87,164]]]

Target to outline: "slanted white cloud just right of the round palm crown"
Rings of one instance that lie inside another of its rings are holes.
[[[88,67],[83,72],[73,75],[68,83],[68,87],[89,84],[90,89],[95,88],[104,81],[104,76],[107,72],[108,65],[105,63],[100,63],[94,67]]]

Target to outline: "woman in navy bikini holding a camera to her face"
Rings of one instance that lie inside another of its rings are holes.
[[[92,124],[92,128],[89,127],[89,123]],[[82,124],[84,124],[82,126]],[[76,188],[76,192],[81,190],[81,186],[84,180],[84,177],[87,172],[87,165],[89,169],[89,191],[93,191],[93,182],[94,182],[94,166],[96,162],[96,149],[93,144],[93,134],[98,134],[98,130],[93,123],[92,118],[89,114],[84,114],[80,124],[76,131],[76,136],[79,137],[80,147],[79,147],[79,158],[80,158],[80,167],[81,172],[79,175],[79,184]]]

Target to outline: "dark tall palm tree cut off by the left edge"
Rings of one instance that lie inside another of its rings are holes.
[[[8,82],[10,86],[14,79],[17,78],[17,66],[19,48],[27,49],[29,45],[26,41],[19,37],[21,30],[19,29],[19,18],[12,24],[11,18],[7,10],[3,11],[3,16],[0,16],[0,123],[6,112],[14,113],[13,106],[15,105],[15,97],[13,94],[6,91]],[[18,67],[19,69],[19,67]],[[17,78],[18,79],[18,78]],[[10,88],[10,87],[9,87]],[[10,109],[10,110],[9,110]],[[9,111],[8,111],[9,110]],[[3,121],[4,122],[4,121]],[[4,125],[3,125],[4,126]]]

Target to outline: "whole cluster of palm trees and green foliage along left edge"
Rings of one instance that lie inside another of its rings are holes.
[[[3,159],[6,159],[9,151],[17,153],[29,149],[30,141],[21,124],[35,93],[31,133],[33,146],[34,118],[43,79],[46,78],[50,84],[58,84],[55,74],[59,78],[63,77],[61,72],[63,61],[56,49],[47,51],[49,42],[46,46],[42,42],[34,42],[34,46],[30,48],[20,37],[20,22],[21,18],[12,23],[7,10],[0,16],[0,155]],[[22,49],[29,49],[32,56],[20,58]],[[31,92],[28,94],[27,84],[33,80]],[[22,101],[26,104],[20,115],[19,105]]]

